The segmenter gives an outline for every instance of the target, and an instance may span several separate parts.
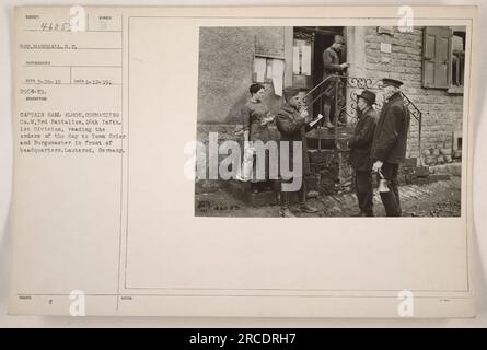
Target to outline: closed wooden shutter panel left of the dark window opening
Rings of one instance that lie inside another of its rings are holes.
[[[422,46],[422,86],[449,89],[452,32],[445,26],[427,26]]]

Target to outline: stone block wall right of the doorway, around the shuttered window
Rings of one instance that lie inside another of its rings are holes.
[[[405,82],[404,92],[422,113],[421,150],[427,165],[451,161],[453,132],[462,130],[463,95],[444,89],[424,89],[422,28],[413,33],[380,34],[378,27],[364,30],[364,74],[389,77]],[[381,43],[391,44],[391,52],[381,52]],[[418,156],[418,122],[411,119],[408,156]]]

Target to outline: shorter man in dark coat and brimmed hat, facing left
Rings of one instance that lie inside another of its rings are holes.
[[[350,148],[350,163],[355,170],[356,191],[360,212],[357,217],[373,217],[373,190],[370,149],[372,147],[373,135],[378,115],[373,109],[375,94],[364,90],[357,95],[357,115],[359,121],[353,130],[353,136],[348,141]]]

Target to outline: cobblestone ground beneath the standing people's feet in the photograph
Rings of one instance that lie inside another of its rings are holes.
[[[385,217],[385,211],[376,189],[374,190],[374,214]],[[426,185],[406,185],[399,187],[403,217],[460,217],[461,179],[452,176]],[[209,203],[201,208],[199,203]],[[309,203],[318,209],[315,214],[301,213],[295,207],[291,210],[297,217],[352,217],[358,212],[357,197],[352,194],[317,196]],[[277,206],[252,207],[235,199],[224,190],[196,195],[196,215],[200,217],[279,217]]]

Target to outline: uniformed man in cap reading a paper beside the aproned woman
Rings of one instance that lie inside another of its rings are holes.
[[[281,142],[289,142],[289,153],[285,153],[280,155],[280,167],[282,170],[282,162],[288,162],[288,170],[292,170],[293,173],[297,172],[293,168],[293,164],[297,163],[300,166],[298,171],[299,178],[290,178],[288,174],[283,174],[281,171],[282,178],[282,191],[281,191],[281,208],[280,215],[285,218],[292,218],[294,214],[289,210],[290,203],[290,191],[285,189],[286,184],[291,184],[295,180],[301,184],[300,188],[297,190],[300,200],[300,210],[309,213],[314,213],[317,211],[316,208],[310,207],[306,205],[306,186],[304,184],[304,177],[310,173],[310,163],[308,160],[308,145],[306,145],[306,137],[305,137],[305,128],[308,122],[311,121],[312,117],[306,110],[305,105],[303,104],[303,92],[300,92],[299,89],[294,88],[286,88],[283,91],[283,95],[286,98],[286,104],[279,110],[276,116],[276,126],[281,135]],[[302,152],[299,158],[293,154],[293,144],[294,142],[301,143]],[[282,152],[282,147],[281,147]]]

